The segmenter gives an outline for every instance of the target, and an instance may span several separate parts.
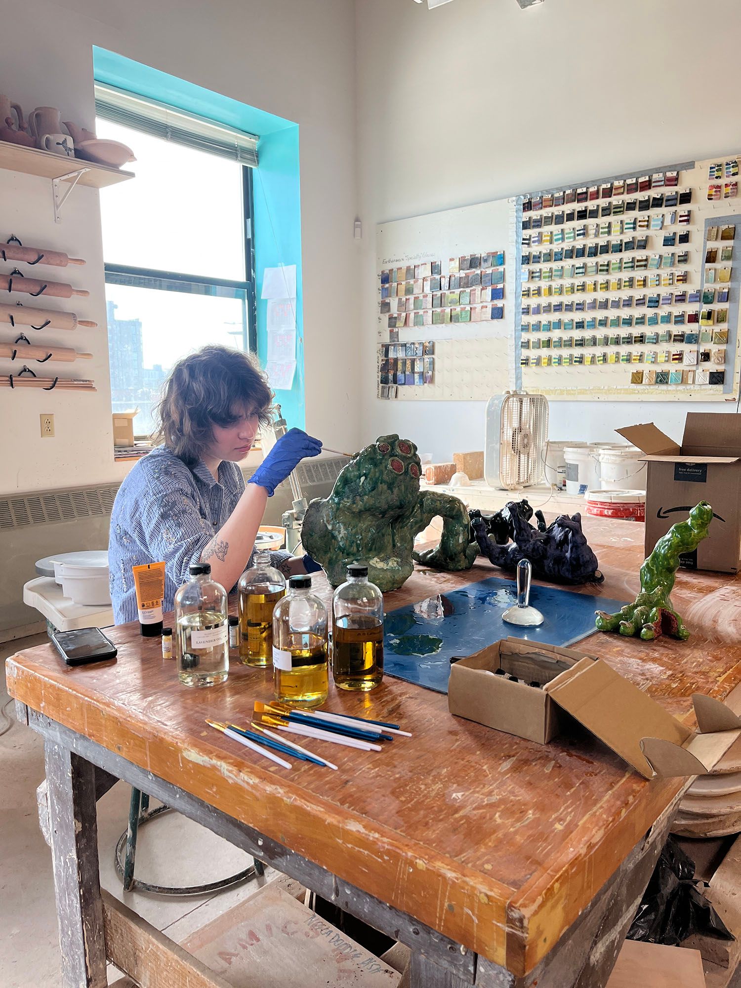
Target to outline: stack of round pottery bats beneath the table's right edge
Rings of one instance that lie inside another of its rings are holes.
[[[680,803],[672,831],[681,837],[725,837],[741,831],[741,739],[710,776],[698,776]]]

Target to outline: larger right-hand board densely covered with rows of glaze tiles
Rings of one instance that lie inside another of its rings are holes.
[[[550,399],[733,399],[741,201],[731,178],[708,200],[718,164],[738,174],[738,155],[725,155],[518,199],[526,389]]]

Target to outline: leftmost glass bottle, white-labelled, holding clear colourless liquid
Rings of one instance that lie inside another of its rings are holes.
[[[226,591],[207,562],[191,564],[191,579],[175,595],[178,678],[186,686],[215,686],[229,675]]]

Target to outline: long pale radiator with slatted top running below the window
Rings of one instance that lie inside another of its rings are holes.
[[[298,479],[307,500],[326,497],[346,459],[312,459],[299,464]],[[245,480],[252,468],[244,471]],[[23,586],[39,574],[37,559],[55,552],[108,548],[111,511],[119,484],[34,491],[0,497],[0,641],[29,633],[42,620],[23,603]],[[266,525],[280,525],[291,505],[290,486],[281,484],[268,499]]]

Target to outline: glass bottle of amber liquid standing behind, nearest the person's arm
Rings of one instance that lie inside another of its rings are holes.
[[[255,553],[253,566],[239,578],[239,661],[269,666],[273,661],[273,611],[286,593],[286,578],[271,565],[266,549]]]

